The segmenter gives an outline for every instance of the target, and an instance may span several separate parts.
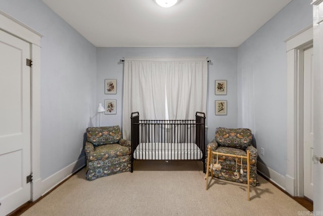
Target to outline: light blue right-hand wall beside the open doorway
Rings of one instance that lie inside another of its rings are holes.
[[[252,129],[259,160],[279,174],[287,165],[289,36],[312,23],[311,0],[293,0],[238,48],[238,126]]]

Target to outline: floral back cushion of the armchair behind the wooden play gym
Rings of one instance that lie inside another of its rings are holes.
[[[245,150],[252,141],[251,130],[248,128],[218,127],[216,141],[220,146],[239,148]]]

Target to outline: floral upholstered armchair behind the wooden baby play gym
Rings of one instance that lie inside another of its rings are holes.
[[[247,156],[246,151],[250,151],[250,185],[260,185],[257,176],[257,157],[258,152],[252,146],[252,134],[248,128],[224,128],[218,127],[216,137],[207,145],[211,151]],[[236,157],[218,155],[221,169],[213,169],[213,177],[228,180],[232,182],[240,182],[247,184],[247,161],[242,160],[243,174],[240,173],[241,160]]]

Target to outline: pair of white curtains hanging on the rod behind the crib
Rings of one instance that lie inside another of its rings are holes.
[[[196,111],[206,112],[206,94],[206,57],[125,58],[124,139],[131,139],[132,112],[140,119],[166,119],[166,113],[169,119],[194,119]]]

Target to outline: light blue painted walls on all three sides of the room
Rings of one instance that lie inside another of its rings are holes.
[[[95,48],[40,0],[0,0],[0,10],[44,35],[41,42],[41,178],[75,162],[85,128],[97,125],[96,107],[117,99],[117,114],[102,125],[122,124],[122,57],[207,56],[208,143],[218,126],[249,127],[260,161],[286,174],[287,65],[284,40],[312,23],[311,0],[293,0],[239,48]],[[117,94],[104,94],[104,79]],[[214,80],[228,80],[228,95],[214,95]],[[228,115],[214,114],[214,100],[228,100]],[[125,116],[126,117],[126,116]]]

